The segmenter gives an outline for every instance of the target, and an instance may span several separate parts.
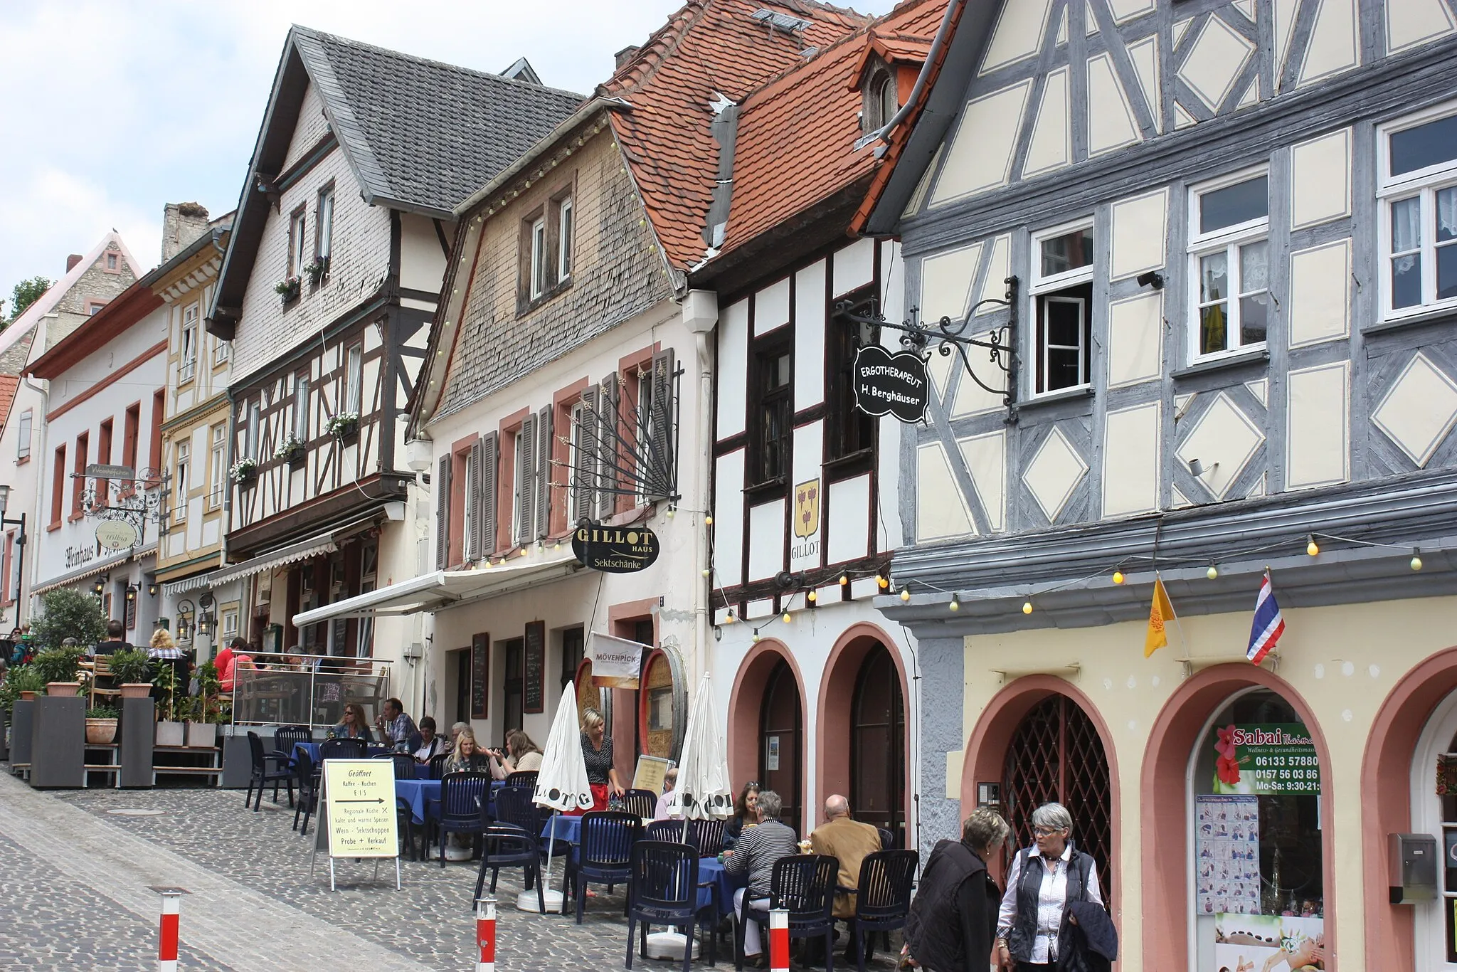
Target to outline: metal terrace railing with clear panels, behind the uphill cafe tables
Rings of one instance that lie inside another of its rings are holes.
[[[390,666],[380,659],[303,654],[302,667],[233,670],[235,726],[337,726],[357,702],[369,724],[390,697]]]

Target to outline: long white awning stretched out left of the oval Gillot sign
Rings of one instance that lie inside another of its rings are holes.
[[[437,570],[412,580],[380,587],[379,590],[345,597],[344,600],[337,600],[332,605],[323,605],[313,611],[303,611],[293,616],[293,624],[302,628],[307,624],[318,624],[334,618],[372,618],[376,615],[446,611],[558,580],[580,568],[581,563],[568,552],[545,560],[522,558],[501,567]]]

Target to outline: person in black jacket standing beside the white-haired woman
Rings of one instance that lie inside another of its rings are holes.
[[[927,858],[911,901],[906,947],[928,972],[986,972],[1001,892],[986,861],[1011,829],[995,810],[966,818],[960,841],[941,841]]]

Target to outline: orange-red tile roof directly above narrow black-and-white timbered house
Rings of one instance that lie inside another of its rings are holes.
[[[874,147],[855,149],[864,133],[854,82],[871,50],[890,61],[922,60],[944,13],[946,0],[908,0],[749,95],[720,256],[876,169]]]

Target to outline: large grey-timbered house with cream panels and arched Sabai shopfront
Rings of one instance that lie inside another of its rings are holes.
[[[928,353],[985,342],[880,600],[927,828],[1065,803],[1123,969],[1453,968],[1387,835],[1454,832],[1457,7],[953,7],[861,214]]]

